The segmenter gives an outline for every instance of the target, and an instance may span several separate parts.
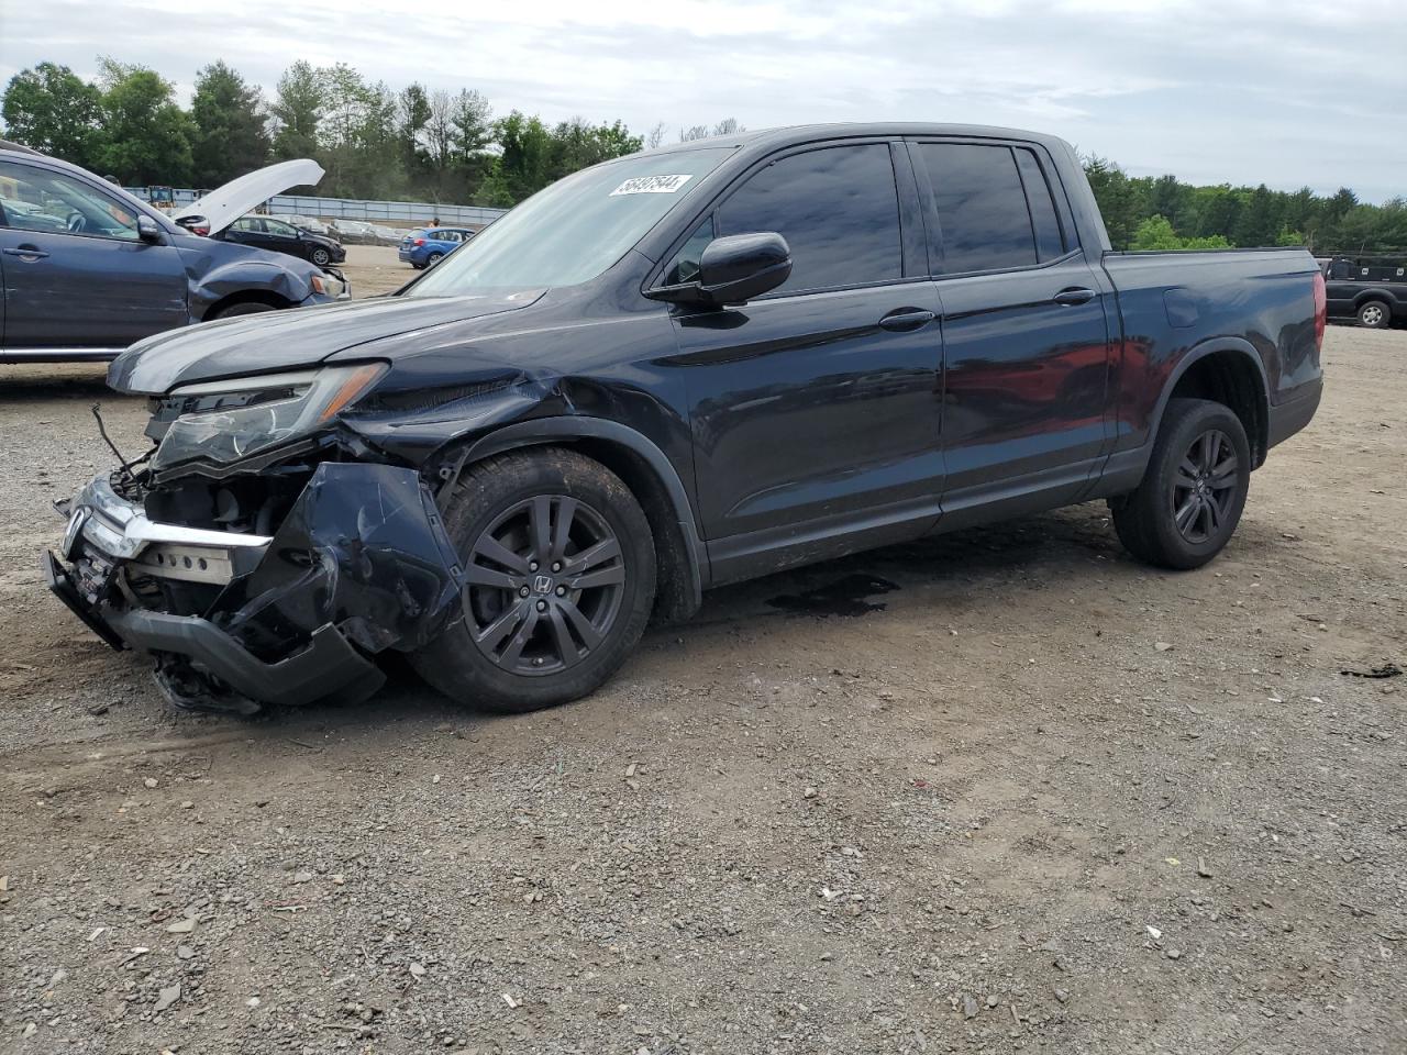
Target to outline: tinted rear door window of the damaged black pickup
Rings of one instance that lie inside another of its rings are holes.
[[[1029,267],[1038,262],[1031,211],[1010,146],[919,143],[919,156],[933,187],[944,273]],[[1044,193],[1050,205],[1050,190]],[[1054,222],[1054,205],[1050,208]],[[1058,224],[1054,236],[1059,236]],[[1058,256],[1050,228],[1045,238],[1050,252]]]

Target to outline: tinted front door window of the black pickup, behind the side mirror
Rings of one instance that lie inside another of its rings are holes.
[[[719,207],[718,234],[758,231],[775,231],[791,246],[792,273],[779,287],[785,293],[902,279],[889,146],[806,151],[754,173]],[[694,239],[689,248],[698,248]],[[687,270],[678,263],[675,277]]]

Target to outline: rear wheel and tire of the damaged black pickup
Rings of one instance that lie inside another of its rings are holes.
[[[1110,504],[1114,530],[1141,561],[1199,568],[1231,540],[1249,487],[1241,419],[1210,399],[1171,399],[1142,482]]]

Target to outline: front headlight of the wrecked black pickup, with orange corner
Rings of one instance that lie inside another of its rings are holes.
[[[356,402],[386,370],[384,363],[366,363],[182,385],[158,408],[156,418],[172,421],[152,468],[197,459],[239,461],[307,436]]]

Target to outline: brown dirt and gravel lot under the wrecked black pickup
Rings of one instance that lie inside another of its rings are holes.
[[[3,369],[0,1049],[1407,1051],[1407,677],[1342,672],[1407,667],[1407,333],[1325,363],[1202,571],[1081,506],[718,592],[550,713],[255,720],[44,592],[144,408]]]

